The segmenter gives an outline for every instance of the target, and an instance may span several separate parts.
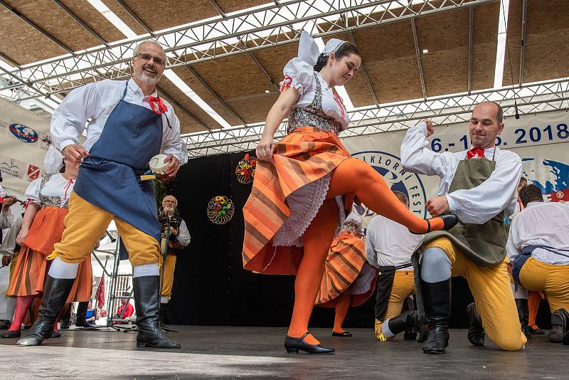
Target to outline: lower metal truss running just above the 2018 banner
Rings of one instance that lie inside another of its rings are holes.
[[[473,91],[470,94],[383,104],[380,107],[362,107],[349,112],[351,124],[347,130],[341,132],[340,137],[406,130],[424,118],[430,118],[437,125],[466,122],[474,105],[489,100],[498,102],[504,108],[505,116],[516,115],[514,99],[520,115],[569,110],[569,78],[528,83],[521,87],[510,86]],[[182,138],[188,146],[191,158],[241,152],[255,149],[261,137],[262,127],[263,124],[259,123],[230,130],[185,134]],[[285,120],[275,133],[275,139],[284,137],[286,130]]]

